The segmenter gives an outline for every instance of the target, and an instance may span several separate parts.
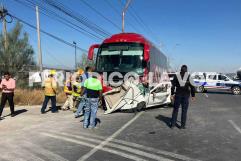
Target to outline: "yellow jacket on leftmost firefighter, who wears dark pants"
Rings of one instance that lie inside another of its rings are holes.
[[[57,83],[54,78],[47,78],[44,81],[44,94],[45,96],[55,96],[57,90]]]

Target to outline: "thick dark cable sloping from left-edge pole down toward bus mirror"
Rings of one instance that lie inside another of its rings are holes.
[[[25,25],[33,28],[33,29],[37,29],[36,26],[31,25],[31,24],[29,24],[28,22],[26,22],[26,21],[24,21],[24,20],[22,20],[22,19],[20,19],[20,18],[18,18],[18,17],[16,17],[16,16],[14,16],[14,15],[12,15],[12,14],[9,14],[9,15],[10,15],[11,17],[13,17],[14,19],[22,22],[23,24],[25,24]],[[40,32],[43,33],[43,34],[45,34],[45,35],[47,35],[47,36],[49,36],[49,37],[51,37],[51,38],[53,38],[53,39],[55,39],[55,40],[57,40],[57,41],[59,41],[59,42],[62,42],[62,43],[64,43],[64,44],[66,44],[66,45],[68,45],[68,46],[75,47],[74,44],[72,44],[72,43],[70,43],[70,42],[67,42],[67,41],[65,41],[65,40],[63,40],[63,39],[61,39],[61,38],[59,38],[59,37],[57,37],[57,36],[55,36],[55,35],[53,35],[53,34],[51,34],[51,33],[48,33],[48,32],[46,32],[46,31],[44,31],[44,30],[42,30],[42,29],[40,30]],[[87,50],[85,50],[85,49],[83,49],[83,48],[80,48],[80,47],[78,47],[78,46],[76,46],[76,48],[79,49],[79,50],[81,50],[81,51],[87,52]]]

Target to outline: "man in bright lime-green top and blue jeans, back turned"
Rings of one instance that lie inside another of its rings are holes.
[[[87,104],[84,112],[84,128],[95,128],[99,99],[102,100],[102,85],[96,76],[84,82]],[[82,92],[83,95],[84,92]]]

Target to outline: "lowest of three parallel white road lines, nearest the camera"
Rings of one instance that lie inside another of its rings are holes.
[[[71,143],[74,143],[74,144],[84,145],[84,146],[91,147],[91,148],[95,148],[97,146],[95,144],[90,144],[90,143],[87,143],[87,142],[82,142],[82,141],[79,141],[79,140],[70,139],[70,138],[66,138],[66,137],[63,137],[63,136],[57,136],[57,135],[48,134],[48,133],[41,133],[41,134],[44,135],[44,136],[64,140],[64,141],[71,142]],[[142,159],[142,158],[140,158],[136,155],[130,155],[130,154],[123,153],[123,152],[120,152],[120,151],[116,151],[116,150],[113,150],[113,149],[110,149],[110,148],[103,147],[101,150],[112,153],[112,154],[115,154],[115,155],[122,156],[122,157],[127,158],[127,159],[132,159],[132,160],[135,160],[135,161],[147,161],[147,160]]]

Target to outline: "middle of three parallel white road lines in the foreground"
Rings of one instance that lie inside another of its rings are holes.
[[[93,139],[93,138],[89,138],[89,137],[86,137],[86,136],[76,136],[76,135],[71,135],[71,134],[66,134],[66,133],[59,133],[59,134],[62,134],[66,137],[71,136],[71,137],[74,137],[74,138],[77,138],[77,139],[81,139],[83,141],[90,141],[90,142],[93,142],[93,143],[101,143],[102,142],[102,140]],[[163,158],[161,156],[158,156],[158,155],[155,155],[155,154],[152,154],[152,153],[148,153],[148,152],[145,152],[145,151],[142,151],[142,150],[134,149],[134,148],[128,147],[128,146],[123,146],[123,145],[113,144],[113,143],[108,143],[106,146],[112,147],[112,148],[117,148],[117,149],[127,151],[127,152],[130,152],[130,153],[133,153],[133,154],[137,154],[137,155],[140,155],[140,156],[143,156],[143,157],[148,157],[148,158],[154,159],[154,160],[171,161],[170,159],[166,159],[166,158]]]

